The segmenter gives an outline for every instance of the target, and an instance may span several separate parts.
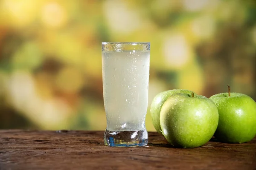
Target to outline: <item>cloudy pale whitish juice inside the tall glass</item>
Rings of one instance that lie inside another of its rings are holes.
[[[150,51],[102,52],[107,130],[145,130],[149,62]]]

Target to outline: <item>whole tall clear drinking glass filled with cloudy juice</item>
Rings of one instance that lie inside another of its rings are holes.
[[[148,144],[150,42],[102,42],[102,77],[108,146]]]

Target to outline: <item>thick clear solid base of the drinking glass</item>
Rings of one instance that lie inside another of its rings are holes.
[[[104,143],[111,147],[135,147],[148,144],[146,129],[138,131],[109,131],[105,130]]]

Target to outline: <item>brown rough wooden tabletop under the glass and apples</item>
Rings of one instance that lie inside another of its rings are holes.
[[[212,139],[202,147],[182,149],[149,132],[146,147],[108,147],[103,144],[103,133],[0,130],[0,170],[256,169],[256,138],[244,144]]]

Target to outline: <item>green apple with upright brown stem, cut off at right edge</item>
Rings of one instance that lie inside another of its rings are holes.
[[[245,94],[221,93],[210,97],[218,107],[215,138],[225,143],[244,143],[256,134],[256,102]]]

